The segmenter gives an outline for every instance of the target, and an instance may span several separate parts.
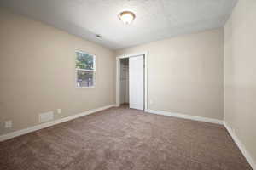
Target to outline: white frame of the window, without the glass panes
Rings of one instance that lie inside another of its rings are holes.
[[[78,68],[76,68],[77,53],[89,54],[89,55],[93,56],[93,70],[78,69]],[[74,66],[75,66],[75,88],[76,89],[96,88],[96,55],[95,54],[87,53],[87,52],[85,52],[83,50],[75,50]],[[78,71],[93,72],[93,86],[79,88],[78,84],[77,84]]]

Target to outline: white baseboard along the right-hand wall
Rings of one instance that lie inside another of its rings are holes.
[[[241,140],[238,139],[235,133],[231,130],[231,128],[227,125],[226,122],[224,122],[224,127],[227,129],[227,131],[230,133],[231,138],[236,143],[237,147],[241,150],[241,153],[245,158],[247,159],[248,163],[253,167],[254,170],[256,170],[256,162],[253,160],[253,156],[247,151],[244,144],[241,143]]]

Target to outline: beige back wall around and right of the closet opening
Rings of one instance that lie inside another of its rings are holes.
[[[148,108],[223,120],[224,31],[217,29],[120,49],[148,51]]]

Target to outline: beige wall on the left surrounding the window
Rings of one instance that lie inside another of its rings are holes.
[[[0,8],[0,134],[114,103],[113,51]],[[96,54],[96,88],[75,88],[75,50]],[[12,120],[13,128],[3,128]]]

